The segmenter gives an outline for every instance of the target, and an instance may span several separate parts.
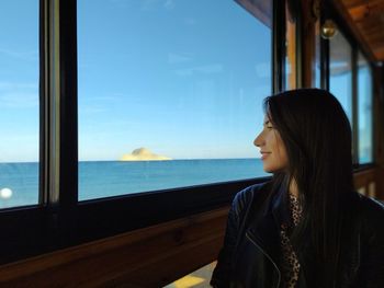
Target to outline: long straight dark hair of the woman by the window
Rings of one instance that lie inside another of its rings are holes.
[[[314,263],[308,265],[316,266],[319,287],[334,287],[341,244],[340,199],[353,191],[348,117],[337,99],[319,89],[269,96],[264,111],[280,133],[289,158],[289,168],[273,181],[287,185],[294,178],[303,207],[291,241],[298,247],[310,242]]]

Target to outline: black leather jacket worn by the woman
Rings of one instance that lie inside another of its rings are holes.
[[[282,287],[279,223],[286,211],[282,193],[267,200],[269,186],[257,184],[236,195],[213,287]],[[384,288],[384,206],[355,192],[343,201],[349,214],[340,231],[340,273],[332,288]],[[294,250],[301,263],[296,288],[318,287],[309,244]]]

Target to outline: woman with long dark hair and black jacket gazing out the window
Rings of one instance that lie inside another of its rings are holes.
[[[238,193],[213,287],[383,288],[384,206],[353,191],[351,129],[334,95],[264,100],[268,183]]]

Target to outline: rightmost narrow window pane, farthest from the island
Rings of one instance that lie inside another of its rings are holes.
[[[358,119],[359,119],[359,163],[373,161],[372,147],[372,76],[369,62],[358,56]]]

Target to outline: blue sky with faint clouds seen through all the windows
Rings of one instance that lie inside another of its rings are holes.
[[[0,25],[0,162],[37,161],[38,1],[2,1]],[[259,157],[270,60],[234,0],[78,0],[79,159]]]

